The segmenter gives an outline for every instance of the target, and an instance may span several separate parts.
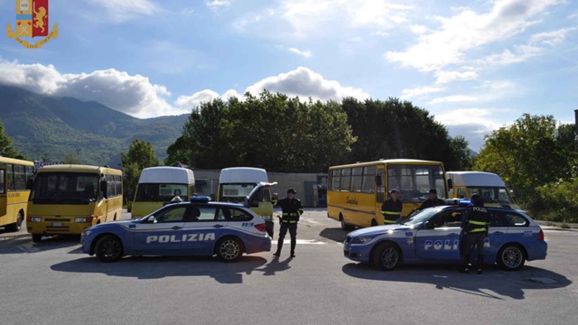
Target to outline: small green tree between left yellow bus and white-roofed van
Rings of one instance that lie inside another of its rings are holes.
[[[121,167],[124,169],[123,193],[126,202],[134,198],[140,172],[144,168],[159,166],[161,163],[155,157],[153,145],[147,141],[135,139],[127,153],[120,154]]]

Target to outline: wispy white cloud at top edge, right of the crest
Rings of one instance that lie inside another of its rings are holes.
[[[90,2],[101,6],[106,12],[106,18],[117,24],[141,16],[152,16],[161,11],[161,8],[150,0],[90,0]]]

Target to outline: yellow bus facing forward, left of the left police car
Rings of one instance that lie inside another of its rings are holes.
[[[28,199],[26,227],[32,241],[43,236],[80,234],[123,216],[123,173],[88,165],[38,169]]]

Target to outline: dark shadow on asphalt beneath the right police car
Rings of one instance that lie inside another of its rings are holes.
[[[525,298],[524,290],[557,289],[572,284],[572,281],[564,275],[528,265],[515,272],[502,271],[496,266],[490,266],[484,269],[482,275],[472,272],[471,269],[470,274],[461,274],[457,271],[459,267],[458,264],[416,264],[402,265],[391,272],[381,272],[369,264],[349,263],[343,265],[342,271],[344,274],[360,279],[425,283],[435,285],[439,290],[453,290],[497,300],[503,300],[499,296],[523,300]],[[549,278],[557,281],[557,283],[538,283],[529,280],[530,278]]]

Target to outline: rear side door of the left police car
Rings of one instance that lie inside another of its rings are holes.
[[[211,256],[227,223],[227,216],[218,205],[191,206],[183,227],[183,254]]]

